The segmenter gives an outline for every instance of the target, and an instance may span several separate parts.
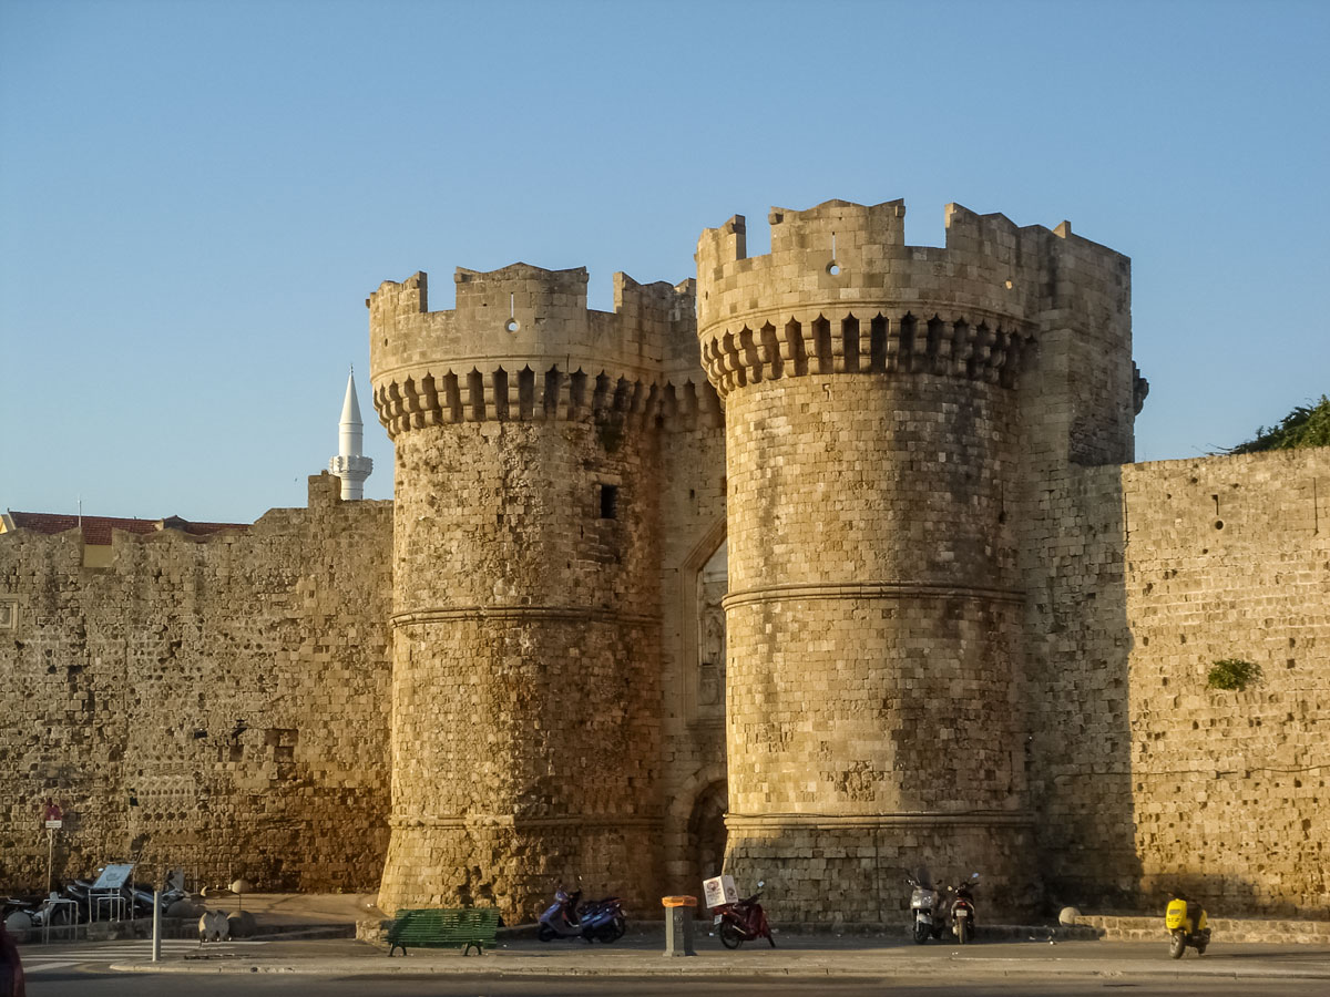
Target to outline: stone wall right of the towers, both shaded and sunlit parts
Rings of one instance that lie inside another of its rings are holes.
[[[1051,903],[1325,913],[1327,481],[1326,449],[1045,480],[1027,763]],[[1221,658],[1264,679],[1208,689]]]

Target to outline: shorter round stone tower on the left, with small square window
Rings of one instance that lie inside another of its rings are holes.
[[[557,883],[656,897],[662,804],[654,428],[696,350],[693,283],[459,269],[368,299],[396,448],[391,840],[379,905],[495,904]],[[685,351],[685,352],[686,352]],[[696,364],[696,352],[694,364]]]

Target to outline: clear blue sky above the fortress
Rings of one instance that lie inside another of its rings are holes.
[[[380,280],[903,197],[1132,257],[1137,457],[1330,391],[1330,4],[0,0],[0,506],[303,505]]]

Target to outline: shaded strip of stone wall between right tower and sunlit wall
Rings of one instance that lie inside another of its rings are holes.
[[[1035,451],[1021,521],[1023,699],[1031,711],[1023,760],[1039,815],[1040,887],[1053,909],[1129,907],[1140,860],[1128,762],[1121,468],[1059,465],[1037,444]]]

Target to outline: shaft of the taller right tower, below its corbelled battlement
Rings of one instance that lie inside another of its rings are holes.
[[[801,920],[890,920],[879,880],[919,863],[1028,887],[1004,393],[846,375],[728,399],[730,859]]]

